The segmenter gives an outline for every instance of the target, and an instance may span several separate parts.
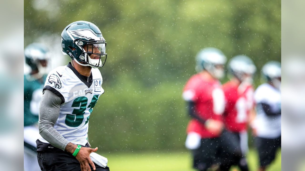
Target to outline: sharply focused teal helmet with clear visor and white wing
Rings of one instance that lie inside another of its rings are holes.
[[[73,22],[66,26],[61,37],[63,54],[69,55],[79,65],[92,68],[104,66],[107,58],[106,41],[93,23]]]

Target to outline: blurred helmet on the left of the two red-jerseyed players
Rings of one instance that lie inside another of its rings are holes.
[[[207,47],[196,55],[196,71],[206,70],[214,78],[220,79],[224,76],[224,64],[227,58],[217,48]]]

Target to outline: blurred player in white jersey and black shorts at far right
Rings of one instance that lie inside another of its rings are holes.
[[[254,93],[257,116],[253,124],[261,171],[270,165],[281,147],[281,64],[267,62],[262,74],[267,83],[260,85]]]

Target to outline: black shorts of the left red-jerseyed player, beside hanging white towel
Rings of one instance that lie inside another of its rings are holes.
[[[201,145],[198,149],[193,150],[194,168],[206,170],[216,161],[216,152],[219,148],[219,138],[201,139]]]

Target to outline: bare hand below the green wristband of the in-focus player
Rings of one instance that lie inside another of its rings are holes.
[[[95,170],[94,162],[90,159],[90,153],[96,152],[96,148],[88,148],[88,147],[82,147],[79,152],[76,155],[76,159],[81,164],[81,171],[91,171],[89,164],[92,166],[93,170]]]

